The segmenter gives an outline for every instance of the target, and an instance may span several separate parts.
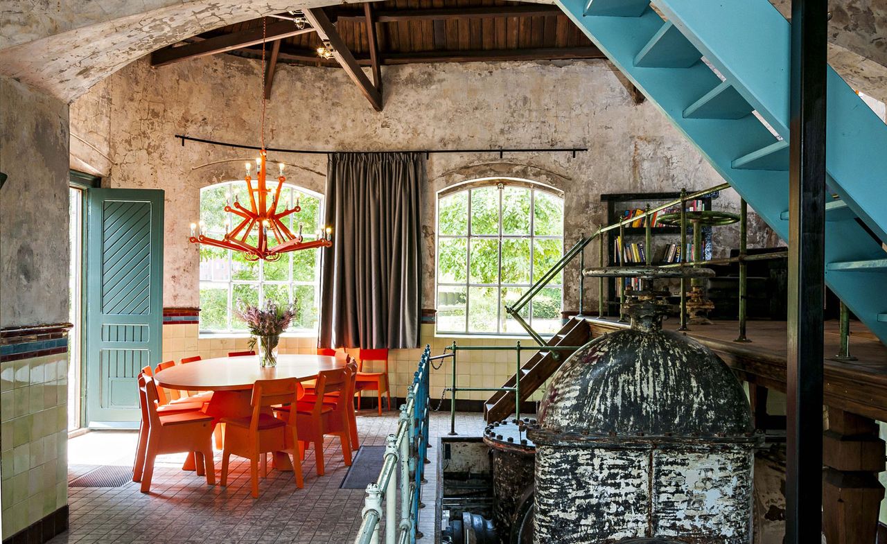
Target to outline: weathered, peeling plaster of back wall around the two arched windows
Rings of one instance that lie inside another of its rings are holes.
[[[587,153],[432,154],[426,191],[423,307],[434,307],[435,202],[446,186],[478,177],[520,177],[565,194],[565,245],[604,221],[601,193],[701,189],[718,174],[655,106],[635,105],[606,61],[407,65],[383,70],[385,108],[373,111],[341,70],[279,67],[268,103],[266,146],[339,151],[434,148],[588,147]],[[259,63],[220,55],[152,69],[132,64],[78,99],[72,133],[110,162],[104,186],[166,191],[164,306],[197,306],[198,252],[188,243],[200,187],[239,178],[252,152],[187,143],[199,138],[259,143]],[[106,127],[106,129],[104,128]],[[103,132],[107,130],[107,132]],[[287,177],[323,192],[326,156],[272,153],[295,166]],[[738,209],[733,192],[718,209]],[[772,245],[755,222],[750,246]],[[715,233],[718,252],[737,229]],[[596,248],[586,258],[597,262]],[[577,265],[564,309],[578,305]],[[595,289],[586,303],[594,304]]]

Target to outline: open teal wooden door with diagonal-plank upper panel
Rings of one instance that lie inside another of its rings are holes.
[[[91,189],[87,213],[86,422],[136,427],[138,372],[161,358],[163,192]]]

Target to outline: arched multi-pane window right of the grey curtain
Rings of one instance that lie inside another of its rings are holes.
[[[437,332],[526,331],[505,310],[563,255],[563,199],[492,181],[437,201]],[[561,328],[562,273],[520,315],[540,333]]]

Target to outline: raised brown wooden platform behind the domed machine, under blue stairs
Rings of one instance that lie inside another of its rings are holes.
[[[628,327],[613,319],[586,318],[592,336]],[[825,352],[839,351],[837,321],[826,322]],[[663,328],[675,330],[676,320],[665,321]],[[742,380],[769,389],[785,391],[787,336],[785,321],[749,321],[746,335],[751,343],[735,343],[739,327],[736,321],[715,321],[695,325],[687,335],[718,353],[734,368]],[[850,351],[859,360],[842,361],[827,357],[825,364],[825,404],[853,414],[887,422],[887,346],[859,322],[852,322]]]

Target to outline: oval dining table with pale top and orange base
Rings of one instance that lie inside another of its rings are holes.
[[[176,365],[154,375],[161,387],[175,390],[212,391],[204,411],[216,422],[224,417],[248,417],[252,414],[250,401],[256,380],[295,378],[307,382],[317,378],[323,370],[345,367],[345,361],[328,355],[280,354],[276,367],[261,367],[256,355],[202,359],[186,365]],[[192,470],[193,456],[189,455],[183,469]],[[292,470],[287,453],[274,453],[274,467]]]

